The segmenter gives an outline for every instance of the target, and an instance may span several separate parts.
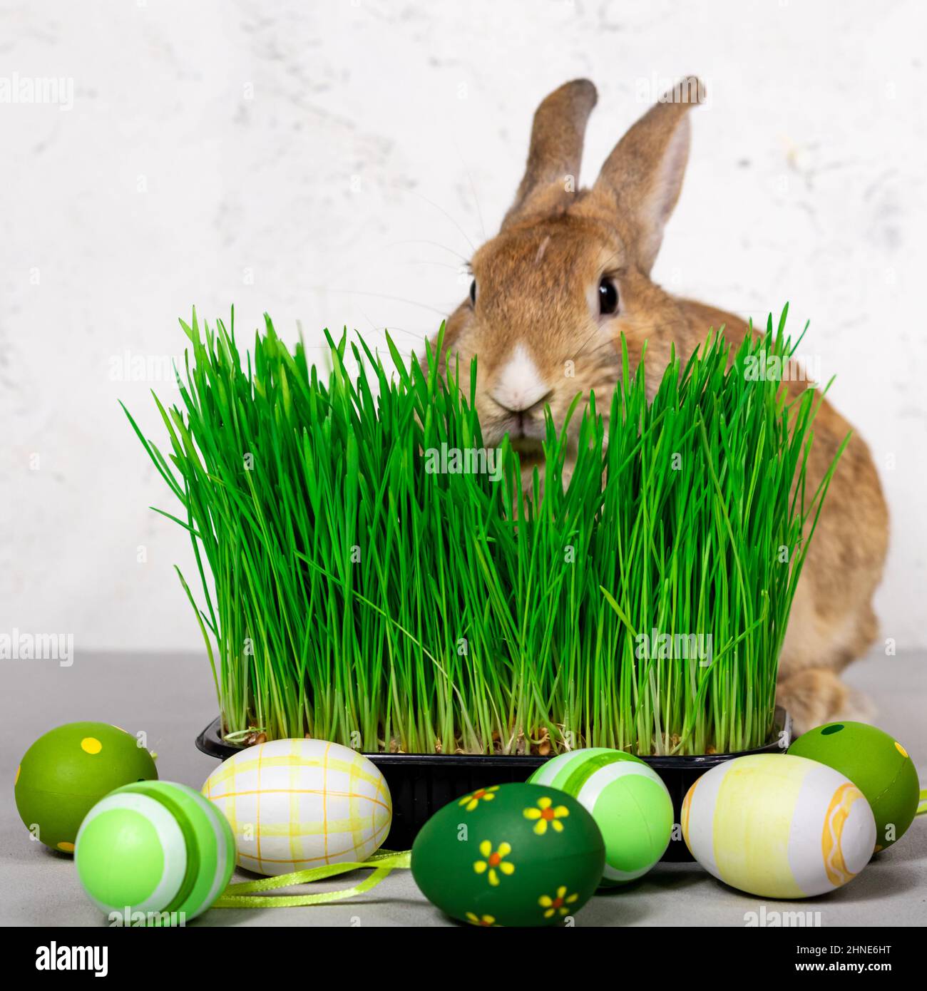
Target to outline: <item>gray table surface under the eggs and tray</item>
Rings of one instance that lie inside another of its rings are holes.
[[[216,713],[204,656],[80,654],[69,668],[53,661],[4,661],[0,777],[8,782],[0,805],[0,924],[103,926],[84,896],[71,858],[30,839],[13,800],[19,759],[33,740],[61,722],[99,719],[144,730],[158,752],[165,780],[199,788],[215,760],[193,746]],[[874,721],[907,747],[927,780],[927,664],[908,654],[873,656],[855,664],[848,682],[875,704]],[[253,875],[239,872],[236,879]],[[359,875],[351,875],[359,877]],[[346,887],[336,878],[319,891]],[[290,889],[288,894],[303,889]],[[577,926],[746,926],[752,913],[811,913],[809,925],[927,925],[927,816],[895,846],[879,854],[850,885],[804,902],[763,901],[719,883],[697,864],[658,864],[635,885],[597,894]],[[794,922],[794,920],[793,920]],[[408,871],[394,872],[366,895],[333,905],[274,910],[213,909],[191,926],[450,926],[428,904]]]

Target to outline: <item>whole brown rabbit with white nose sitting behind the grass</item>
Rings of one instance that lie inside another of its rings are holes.
[[[575,189],[596,89],[568,82],[537,108],[524,177],[500,233],[472,260],[470,298],[447,321],[444,357],[479,356],[476,403],[487,444],[509,433],[530,472],[540,457],[543,410],[555,422],[577,392],[611,394],[619,342],[637,364],[683,361],[709,327],[740,340],[740,318],[677,299],[650,280],[689,153],[689,109],[704,99],[684,79],[647,111],[609,156],[591,189]],[[575,190],[575,191],[574,191]],[[765,321],[762,326],[764,327]],[[655,388],[658,377],[651,376]],[[789,383],[790,391],[807,383]],[[574,426],[579,417],[574,417]],[[808,469],[817,487],[850,424],[828,403],[815,423]],[[834,477],[794,600],[780,660],[779,700],[802,732],[860,717],[840,672],[876,634],[871,598],[885,558],[888,514],[878,476],[854,434]]]

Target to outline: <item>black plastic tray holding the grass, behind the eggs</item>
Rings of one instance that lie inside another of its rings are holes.
[[[782,709],[775,711],[773,739],[755,750],[713,753],[704,756],[642,758],[663,779],[673,800],[674,821],[679,822],[682,800],[692,783],[713,767],[748,753],[784,753],[791,742],[792,720]],[[211,757],[226,760],[245,747],[226,743],[214,719],[196,737],[196,746]],[[548,758],[508,754],[368,753],[380,768],[393,797],[393,826],[384,846],[406,850],[418,830],[448,802],[492,785],[524,781]],[[671,862],[692,859],[679,829],[663,854]]]

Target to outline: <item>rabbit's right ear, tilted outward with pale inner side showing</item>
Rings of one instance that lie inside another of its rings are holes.
[[[689,109],[704,102],[705,88],[690,75],[660,97],[637,121],[602,166],[597,200],[637,228],[637,263],[649,273],[663,227],[679,198],[689,158]]]

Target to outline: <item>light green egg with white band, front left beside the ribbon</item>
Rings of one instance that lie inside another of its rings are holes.
[[[235,838],[192,788],[142,781],[117,788],[87,813],[74,864],[103,912],[129,909],[146,914],[150,925],[175,925],[205,912],[225,890]]]

